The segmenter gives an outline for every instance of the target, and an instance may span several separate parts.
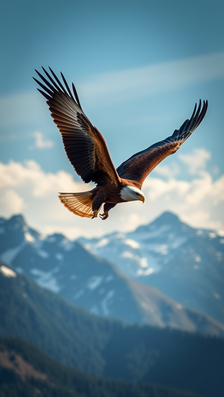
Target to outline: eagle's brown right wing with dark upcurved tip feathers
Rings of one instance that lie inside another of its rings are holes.
[[[149,148],[142,150],[124,161],[118,168],[117,173],[123,179],[138,181],[140,187],[147,175],[155,168],[165,157],[175,153],[180,145],[188,139],[192,132],[201,123],[207,112],[208,101],[204,101],[201,110],[201,99],[197,109],[197,104],[190,120],[186,120],[180,129],[175,129],[171,137],[164,141],[157,142]],[[196,112],[197,109],[197,112]],[[200,113],[201,110],[201,113]]]

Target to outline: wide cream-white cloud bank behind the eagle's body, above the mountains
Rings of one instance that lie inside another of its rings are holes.
[[[90,190],[75,182],[71,174],[46,173],[33,160],[24,164],[0,163],[0,215],[9,217],[22,212],[31,226],[44,234],[61,232],[70,239],[85,235],[100,236],[115,230],[133,230],[147,224],[163,211],[170,210],[194,227],[224,229],[224,175],[213,180],[202,170],[191,181],[146,178],[142,190],[145,203],[118,204],[106,221],[80,218],[71,214],[58,200],[58,192]]]

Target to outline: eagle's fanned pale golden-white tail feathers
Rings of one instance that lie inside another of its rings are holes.
[[[59,200],[73,214],[92,218],[92,191],[82,193],[59,193]]]

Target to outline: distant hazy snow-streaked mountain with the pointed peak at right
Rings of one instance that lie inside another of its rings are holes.
[[[124,274],[224,323],[224,238],[165,212],[131,233],[78,239]]]

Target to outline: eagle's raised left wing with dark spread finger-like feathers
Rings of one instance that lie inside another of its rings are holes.
[[[59,128],[65,152],[75,171],[85,183],[92,181],[101,185],[109,180],[117,185],[120,178],[107,145],[101,133],[83,113],[74,84],[72,87],[75,98],[62,73],[61,77],[67,91],[52,69],[49,68],[54,79],[43,67],[42,69],[52,84],[38,71],[36,73],[45,85],[34,80],[46,91],[38,89],[47,99],[51,116]]]

